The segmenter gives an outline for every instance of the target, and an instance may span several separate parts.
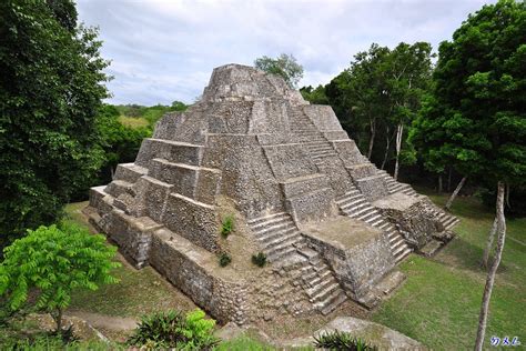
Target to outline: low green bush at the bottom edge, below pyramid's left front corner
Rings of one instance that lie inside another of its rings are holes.
[[[212,335],[214,320],[204,319],[196,309],[183,315],[169,310],[146,314],[141,319],[128,344],[153,349],[212,350],[219,340]]]

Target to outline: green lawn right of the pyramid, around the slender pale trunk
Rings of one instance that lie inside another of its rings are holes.
[[[419,190],[421,191],[421,190]],[[446,195],[428,193],[442,205]],[[404,285],[373,314],[373,320],[434,350],[474,345],[486,273],[479,268],[494,214],[477,198],[457,198],[457,237],[433,259],[411,255],[401,264]],[[492,335],[526,342],[526,219],[507,220],[507,240],[493,290],[486,342]],[[486,343],[488,345],[488,343]]]

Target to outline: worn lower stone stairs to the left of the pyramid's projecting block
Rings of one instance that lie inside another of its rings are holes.
[[[247,223],[269,262],[297,277],[315,309],[327,314],[347,299],[328,264],[307,247],[289,213],[273,213]]]

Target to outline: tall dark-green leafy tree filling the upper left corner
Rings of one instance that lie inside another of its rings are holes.
[[[97,173],[100,47],[73,1],[0,1],[0,241],[54,222]]]

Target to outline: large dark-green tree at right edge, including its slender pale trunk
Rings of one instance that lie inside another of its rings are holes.
[[[475,349],[482,350],[489,299],[506,235],[505,185],[526,180],[526,3],[484,6],[442,42],[434,73],[435,102],[422,121],[426,133],[442,133],[437,154],[464,176],[497,189],[497,247],[489,267]],[[435,138],[433,140],[436,140]],[[490,242],[493,240],[488,240]]]

